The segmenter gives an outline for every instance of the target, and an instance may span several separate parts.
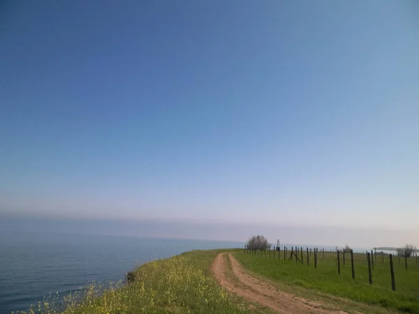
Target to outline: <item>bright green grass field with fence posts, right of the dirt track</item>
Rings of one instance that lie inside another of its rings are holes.
[[[289,251],[288,251],[289,254]],[[355,280],[351,276],[351,257],[346,254],[346,264],[341,256],[341,274],[337,272],[337,253],[318,253],[317,269],[314,269],[314,254],[311,255],[310,266],[307,266],[307,255],[304,252],[304,264],[295,260],[284,260],[281,251],[280,259],[254,256],[243,251],[235,253],[236,259],[254,274],[262,275],[270,281],[290,287],[290,292],[307,294],[310,291],[325,292],[337,297],[344,297],[364,304],[372,304],[383,308],[405,313],[419,313],[419,268],[416,260],[409,259],[408,271],[404,268],[404,260],[399,264],[397,256],[393,258],[397,291],[393,292],[390,279],[390,263],[388,255],[381,262],[381,255],[374,260],[372,270],[373,285],[368,281],[368,264],[365,254],[354,254]],[[304,293],[307,292],[307,293]],[[311,297],[313,297],[311,295]]]

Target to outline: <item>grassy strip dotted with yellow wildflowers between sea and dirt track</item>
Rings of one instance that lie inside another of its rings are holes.
[[[216,283],[210,265],[220,252],[192,251],[149,262],[133,271],[129,285],[112,285],[105,292],[90,285],[65,297],[64,307],[52,297],[20,313],[265,313]]]

